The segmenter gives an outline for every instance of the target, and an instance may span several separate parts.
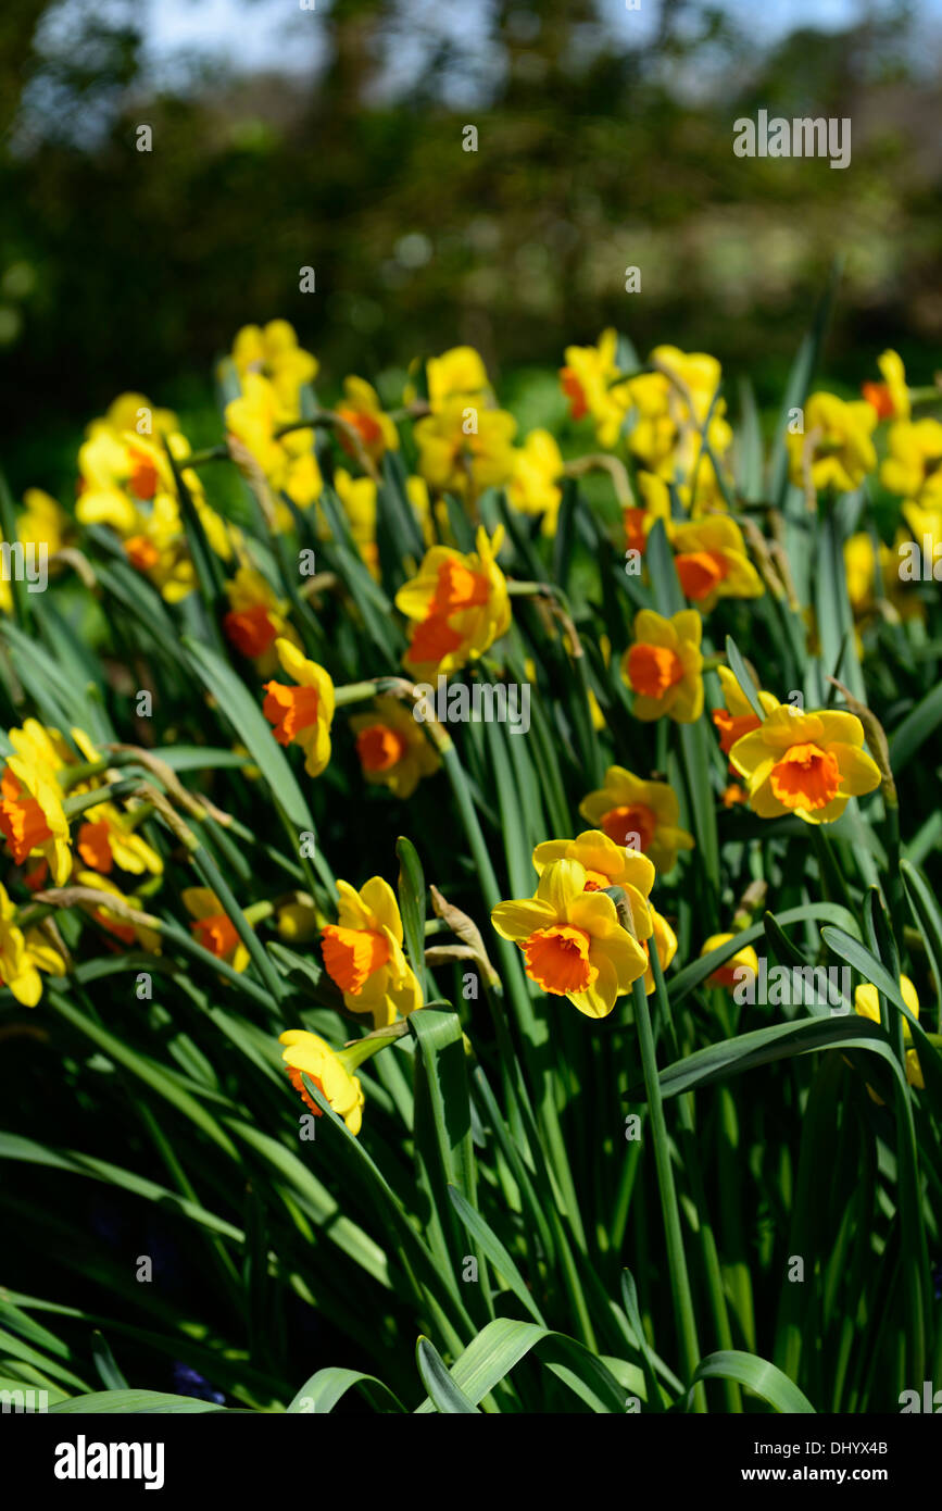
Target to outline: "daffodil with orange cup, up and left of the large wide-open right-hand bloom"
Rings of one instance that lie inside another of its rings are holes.
[[[622,656],[622,675],[634,691],[639,719],[667,715],[678,724],[694,724],[703,712],[703,621],[696,609],[666,620],[654,609],[634,616],[634,644]]]

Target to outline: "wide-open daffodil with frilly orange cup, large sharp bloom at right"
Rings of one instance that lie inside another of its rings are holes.
[[[830,823],[850,798],[880,786],[879,766],[864,749],[864,725],[839,709],[803,713],[779,706],[735,742],[729,760],[761,819],[796,813],[806,823]]]

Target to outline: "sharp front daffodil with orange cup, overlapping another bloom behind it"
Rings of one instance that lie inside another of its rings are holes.
[[[648,956],[611,898],[586,890],[587,879],[580,861],[554,860],[533,898],[498,902],[491,922],[519,947],[527,975],[543,991],[568,997],[586,1017],[604,1018],[645,975]]]

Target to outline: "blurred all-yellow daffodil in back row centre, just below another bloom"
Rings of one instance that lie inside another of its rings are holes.
[[[418,470],[430,488],[462,499],[500,488],[513,476],[515,435],[516,420],[506,409],[457,394],[417,422]]]

